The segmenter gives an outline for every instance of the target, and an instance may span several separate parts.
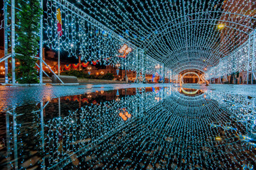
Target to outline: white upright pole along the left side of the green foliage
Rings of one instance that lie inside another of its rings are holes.
[[[12,84],[15,84],[15,0],[11,0],[11,72]]]

